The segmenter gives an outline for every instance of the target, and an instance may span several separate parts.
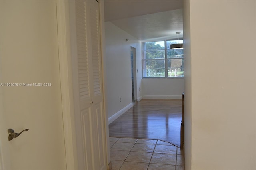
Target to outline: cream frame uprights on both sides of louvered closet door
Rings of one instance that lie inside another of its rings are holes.
[[[99,1],[100,5],[100,34],[102,48],[102,83],[103,83],[103,103],[105,117],[105,140],[106,140],[106,163],[110,162],[109,134],[108,134],[108,116],[106,114],[105,91],[104,91],[104,1]],[[58,47],[60,63],[60,85],[62,97],[62,114],[64,125],[64,141],[66,150],[67,170],[78,169],[78,157],[76,147],[76,129],[74,117],[74,97],[73,97],[73,78],[72,78],[72,56],[70,44],[70,25],[69,25],[69,2],[56,1],[57,6],[57,26],[58,26]]]

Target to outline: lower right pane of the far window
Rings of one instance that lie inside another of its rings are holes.
[[[183,77],[183,59],[168,59],[168,77]]]

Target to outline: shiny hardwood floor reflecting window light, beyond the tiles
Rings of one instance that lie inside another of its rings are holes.
[[[180,147],[181,119],[181,99],[142,99],[109,125],[109,136],[158,139]]]

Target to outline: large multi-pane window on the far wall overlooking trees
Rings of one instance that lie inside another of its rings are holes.
[[[183,77],[183,49],[170,49],[170,44],[183,40],[142,43],[143,77]]]

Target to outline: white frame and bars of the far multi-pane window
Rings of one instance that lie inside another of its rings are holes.
[[[152,50],[145,50],[146,49],[146,43],[147,42],[163,42],[164,41],[164,58],[157,58],[157,59],[146,59],[146,51],[152,51]],[[167,41],[178,41],[177,39],[168,39],[168,40],[155,40],[155,41],[147,41],[147,42],[142,42],[142,79],[161,79],[161,78],[183,78],[184,77],[184,66],[182,65],[182,69],[183,69],[183,75],[182,76],[176,76],[176,77],[168,77],[168,61],[172,61],[175,59],[183,59],[183,63],[184,63],[184,55],[182,55],[183,57],[179,57],[179,58],[168,58],[167,57]],[[183,39],[182,39],[183,41]],[[156,61],[156,60],[164,60],[164,77],[144,77],[144,75],[146,75],[146,68],[144,68],[144,65],[146,65],[146,61]]]

